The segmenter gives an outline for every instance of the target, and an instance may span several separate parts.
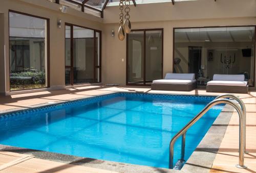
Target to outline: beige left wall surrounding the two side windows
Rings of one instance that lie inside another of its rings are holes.
[[[65,22],[77,24],[79,26],[88,27],[102,31],[102,19],[81,13],[77,10],[68,8],[67,13],[61,13],[59,8],[61,5],[42,0],[2,0],[0,3],[0,14],[4,13],[4,34],[1,32],[2,24],[0,27],[0,34],[3,34],[5,43],[5,66],[0,63],[0,92],[3,92],[3,70],[6,68],[6,92],[10,91],[9,85],[9,10],[28,13],[50,19],[50,87],[51,88],[65,88]],[[90,20],[88,19],[90,18]],[[61,29],[57,28],[57,20],[61,19]],[[1,23],[1,16],[0,16]],[[0,46],[1,40],[0,40]],[[0,48],[1,62],[4,60],[3,51]]]

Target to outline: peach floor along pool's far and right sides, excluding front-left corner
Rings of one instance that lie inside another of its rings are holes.
[[[35,105],[63,102],[82,97],[91,97],[94,95],[111,93],[115,91],[136,91],[148,93],[172,93],[172,94],[194,94],[194,95],[219,95],[223,93],[207,93],[204,89],[198,89],[189,92],[180,91],[153,91],[149,87],[104,87],[87,86],[77,87],[65,90],[42,91],[28,94],[18,94],[11,96],[0,96],[1,111],[30,108]],[[246,144],[249,154],[245,155],[245,165],[247,169],[234,167],[238,163],[238,145],[239,145],[239,119],[237,113],[233,113],[226,134],[217,153],[214,164],[209,168],[210,172],[256,172],[256,91],[248,94],[236,94],[242,98],[247,110]]]

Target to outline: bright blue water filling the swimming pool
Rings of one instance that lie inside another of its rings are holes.
[[[0,143],[139,165],[168,167],[170,139],[214,97],[115,93],[0,118]],[[185,159],[223,106],[186,133]],[[174,162],[180,159],[181,140]]]

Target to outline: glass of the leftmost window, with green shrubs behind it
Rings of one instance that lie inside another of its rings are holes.
[[[48,19],[9,12],[10,90],[46,88]]]

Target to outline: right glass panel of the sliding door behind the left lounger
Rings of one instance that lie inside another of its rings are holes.
[[[145,83],[162,79],[162,31],[146,31]]]

